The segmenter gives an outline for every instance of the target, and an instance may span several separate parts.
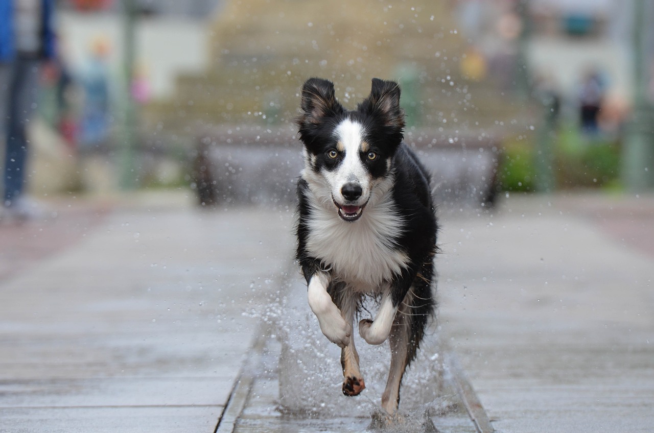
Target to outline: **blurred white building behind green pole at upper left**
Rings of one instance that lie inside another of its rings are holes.
[[[147,80],[150,96],[165,99],[175,92],[182,73],[207,67],[208,23],[220,0],[135,0],[138,24],[136,67]],[[83,71],[98,38],[107,41],[107,63],[120,80],[124,49],[121,0],[65,0],[58,14],[61,54],[71,71]]]

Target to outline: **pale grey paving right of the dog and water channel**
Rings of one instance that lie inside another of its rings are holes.
[[[653,204],[511,196],[444,218],[443,330],[496,431],[651,431]]]

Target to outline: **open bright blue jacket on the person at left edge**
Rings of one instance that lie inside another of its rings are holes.
[[[54,2],[41,0],[43,4],[43,23],[41,37],[43,52],[41,58],[52,59],[55,56]],[[14,46],[14,1],[0,0],[0,62],[11,61],[16,56]]]

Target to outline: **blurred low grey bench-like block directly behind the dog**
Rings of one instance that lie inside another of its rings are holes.
[[[500,151],[491,137],[405,131],[405,143],[432,171],[437,202],[477,209],[498,191]],[[192,186],[201,205],[294,203],[303,168],[301,144],[290,126],[215,128],[198,139]]]

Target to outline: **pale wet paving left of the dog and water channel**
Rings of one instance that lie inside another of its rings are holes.
[[[0,278],[0,432],[213,432],[257,327],[249,311],[292,254],[290,212],[206,212],[176,194],[105,214]]]

